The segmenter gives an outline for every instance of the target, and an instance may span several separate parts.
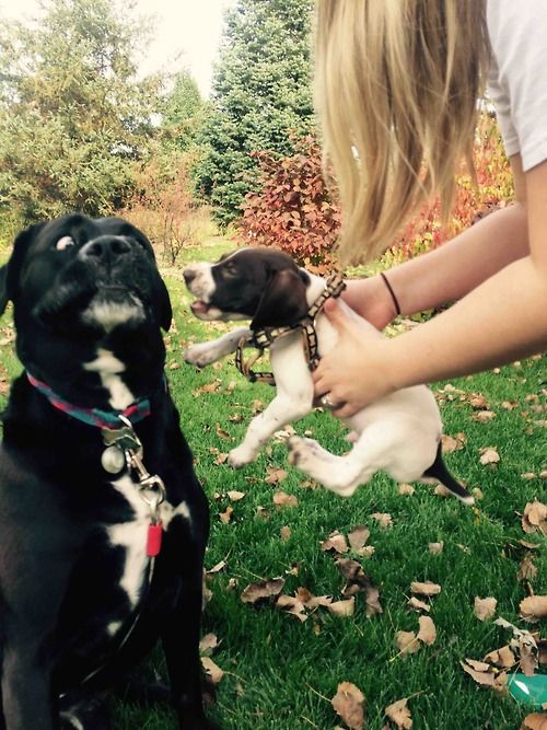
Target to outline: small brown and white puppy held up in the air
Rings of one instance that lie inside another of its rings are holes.
[[[263,247],[237,250],[216,264],[195,264],[186,268],[184,278],[196,298],[191,311],[200,320],[252,320],[251,328],[241,327],[188,348],[186,361],[198,367],[235,351],[242,337],[251,338],[253,331],[300,322],[325,288],[323,278],[299,268],[290,256]],[[362,327],[376,332],[342,301],[340,305]],[[336,348],[337,332],[321,312],[316,332],[319,356]],[[234,467],[254,461],[276,430],[302,418],[314,406],[313,382],[298,331],[274,341],[270,360],[276,397],[251,421],[243,442],[230,452],[229,463]],[[397,482],[440,482],[464,503],[474,503],[442,461],[441,416],[426,385],[392,393],[346,422],[357,437],[347,455],[334,455],[312,439],[293,437],[289,441],[290,461],[345,497],[382,471]]]

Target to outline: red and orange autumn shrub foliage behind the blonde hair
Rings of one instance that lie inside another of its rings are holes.
[[[313,137],[300,140],[291,157],[253,154],[261,171],[261,190],[245,197],[240,222],[244,240],[278,246],[319,273],[331,268],[340,212],[323,179],[317,141]],[[477,217],[512,200],[509,163],[497,123],[487,114],[481,116],[477,128],[474,160],[477,186],[462,170],[449,225],[442,227],[438,201],[424,207],[405,225],[386,253],[388,263],[435,248],[468,228]]]

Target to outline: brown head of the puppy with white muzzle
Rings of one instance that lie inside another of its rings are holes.
[[[253,329],[295,324],[307,312],[310,276],[276,248],[252,246],[184,271],[200,320],[252,320]]]

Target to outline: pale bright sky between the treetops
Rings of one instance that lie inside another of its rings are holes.
[[[217,59],[223,13],[235,0],[136,0],[137,13],[154,15],[156,31],[143,73],[187,68],[202,96],[211,86],[212,67]],[[34,18],[37,0],[0,0],[0,18],[24,20]],[[177,60],[178,58],[178,60]]]

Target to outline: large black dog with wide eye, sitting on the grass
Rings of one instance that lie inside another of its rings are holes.
[[[181,728],[211,728],[208,506],[164,381],[152,246],[117,218],[33,225],[0,269],[9,300],[25,372],[0,449],[0,728],[108,728],[101,698],[159,638]]]

